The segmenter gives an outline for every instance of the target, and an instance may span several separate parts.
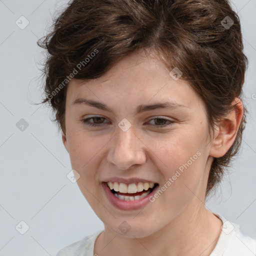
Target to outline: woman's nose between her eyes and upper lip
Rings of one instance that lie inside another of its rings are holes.
[[[145,145],[134,133],[132,126],[123,131],[117,126],[117,134],[112,139],[107,161],[116,165],[118,169],[131,169],[136,164],[146,161]]]

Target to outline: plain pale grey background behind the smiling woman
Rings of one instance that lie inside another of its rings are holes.
[[[103,229],[77,184],[66,177],[69,155],[50,109],[33,104],[42,93],[36,40],[66,2],[0,0],[0,256],[55,255]],[[249,59],[244,103],[250,114],[240,156],[206,206],[256,237],[256,0],[232,3]],[[29,21],[24,29],[15,23],[21,15]],[[21,118],[28,123],[23,131],[16,126]],[[19,233],[25,230],[21,220],[29,226],[24,234]]]

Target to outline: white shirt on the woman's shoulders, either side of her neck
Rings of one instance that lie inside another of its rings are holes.
[[[210,256],[256,256],[256,239],[243,235],[238,224],[227,221],[220,214],[213,214],[222,220],[223,225]],[[56,256],[93,256],[95,240],[103,231],[97,231],[62,248]]]

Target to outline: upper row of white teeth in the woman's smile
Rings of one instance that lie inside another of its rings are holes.
[[[154,186],[153,182],[138,182],[136,185],[135,183],[125,184],[125,183],[118,183],[118,182],[107,182],[107,185],[110,189],[114,189],[116,192],[121,193],[136,193],[144,190],[147,190],[149,187],[152,188]]]

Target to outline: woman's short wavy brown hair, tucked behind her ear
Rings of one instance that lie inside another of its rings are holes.
[[[239,17],[228,0],[72,0],[37,43],[46,49],[41,103],[50,104],[64,134],[65,84],[72,77],[98,78],[139,48],[154,48],[168,70],[182,71],[205,102],[212,130],[241,97],[248,64]],[[238,152],[246,112],[244,106],[232,146],[213,160],[206,196]]]

